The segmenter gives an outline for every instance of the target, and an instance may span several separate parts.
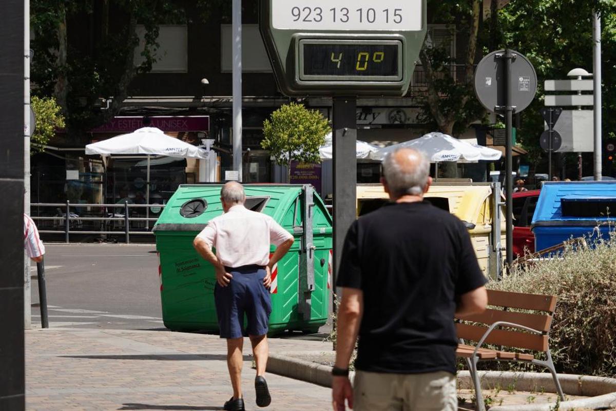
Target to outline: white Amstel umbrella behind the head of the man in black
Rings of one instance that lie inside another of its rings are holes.
[[[437,167],[443,161],[476,163],[479,160],[496,161],[502,156],[502,153],[498,150],[458,140],[442,132],[431,132],[415,140],[385,147],[378,150],[378,152],[372,153],[370,157],[373,160],[383,160],[387,154],[403,147],[425,153],[430,162],[436,163]]]

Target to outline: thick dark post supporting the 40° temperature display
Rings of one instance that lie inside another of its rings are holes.
[[[331,288],[336,290],[344,237],[357,214],[357,98],[334,97],[333,109],[334,267]],[[336,294],[334,292],[334,314]]]

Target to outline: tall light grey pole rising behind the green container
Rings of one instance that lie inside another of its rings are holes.
[[[242,181],[241,166],[241,0],[233,0],[233,169]]]

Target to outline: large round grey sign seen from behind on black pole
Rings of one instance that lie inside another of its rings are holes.
[[[524,55],[512,51],[511,80],[506,78],[505,50],[493,51],[477,65],[475,93],[479,102],[490,112],[504,111],[507,93],[516,113],[529,107],[537,93],[537,72]],[[509,83],[509,86],[508,84]]]

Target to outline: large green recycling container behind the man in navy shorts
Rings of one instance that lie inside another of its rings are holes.
[[[156,221],[165,327],[218,332],[214,268],[193,248],[195,236],[222,214],[222,185],[180,185]],[[317,332],[328,319],[331,216],[312,185],[246,184],[245,206],[265,213],[295,242],[272,272],[270,334]],[[274,246],[271,250],[274,252]]]

